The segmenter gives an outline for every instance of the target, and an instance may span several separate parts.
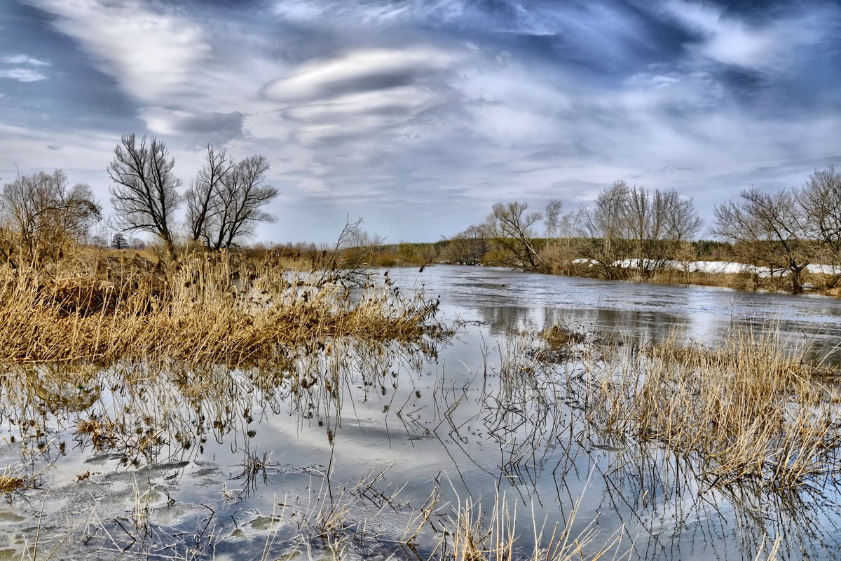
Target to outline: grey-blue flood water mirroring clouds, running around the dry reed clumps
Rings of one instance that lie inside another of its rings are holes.
[[[349,558],[426,559],[453,505],[481,501],[487,515],[495,497],[516,507],[525,547],[533,521],[546,521],[546,533],[597,532],[585,552],[619,538],[619,557],[633,559],[765,558],[778,537],[779,558],[841,557],[838,482],[713,488],[654,444],[586,430],[563,388],[546,402],[500,382],[528,359],[517,334],[555,321],[641,346],[774,329],[837,368],[841,300],[482,267],[389,278],[440,295],[454,334],[409,347],[336,342],[289,371],[173,366],[146,378],[134,364],[71,385],[48,368],[8,374],[40,377],[29,384],[40,392],[3,389],[0,457],[37,488],[0,505],[0,559],[273,560],[319,557],[329,542]],[[406,540],[431,496],[431,525]]]

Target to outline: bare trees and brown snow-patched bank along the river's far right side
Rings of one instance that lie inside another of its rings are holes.
[[[717,205],[707,230],[717,240],[696,239],[703,222],[692,199],[674,189],[650,191],[619,181],[588,208],[567,214],[562,208],[558,200],[543,212],[530,212],[525,202],[498,203],[482,223],[441,241],[389,245],[363,235],[345,251],[385,267],[447,262],[795,292],[807,282],[831,290],[841,271],[841,174],[833,168],[812,173],[802,188],[750,188]],[[300,255],[307,248],[288,251]],[[699,261],[748,267],[722,278],[704,273],[694,265]],[[822,273],[808,273],[818,263],[825,266]]]

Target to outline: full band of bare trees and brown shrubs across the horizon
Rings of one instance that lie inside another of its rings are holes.
[[[249,245],[256,225],[276,220],[266,211],[279,194],[266,184],[266,156],[234,161],[208,145],[204,166],[187,188],[174,163],[164,141],[124,135],[108,164],[113,214],[104,219],[91,189],[71,187],[61,170],[19,175],[0,195],[0,260],[38,267],[56,262],[69,246],[149,246],[150,256],[167,262],[224,248],[270,251],[290,267],[312,268],[330,252],[347,267],[444,262],[839,294],[841,173],[833,167],[813,172],[802,188],[749,188],[717,204],[703,231],[714,239],[699,239],[704,223],[691,198],[616,181],[590,206],[565,213],[557,199],[542,212],[526,202],[494,204],[484,221],[432,243],[386,243],[362,230],[360,219],[346,224],[335,246],[319,247]]]

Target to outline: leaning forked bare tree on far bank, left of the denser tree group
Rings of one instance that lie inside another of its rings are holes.
[[[542,214],[526,214],[528,203],[497,203],[484,221],[484,230],[500,249],[500,259],[508,267],[537,271],[540,257],[534,247],[532,225]]]

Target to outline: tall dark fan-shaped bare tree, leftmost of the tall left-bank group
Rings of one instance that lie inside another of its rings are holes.
[[[120,139],[108,165],[108,177],[114,182],[111,205],[119,228],[155,234],[172,259],[176,257],[173,214],[182,202],[177,191],[181,180],[172,173],[174,165],[165,142],[152,136],[147,145],[144,136],[138,143],[135,135]]]

